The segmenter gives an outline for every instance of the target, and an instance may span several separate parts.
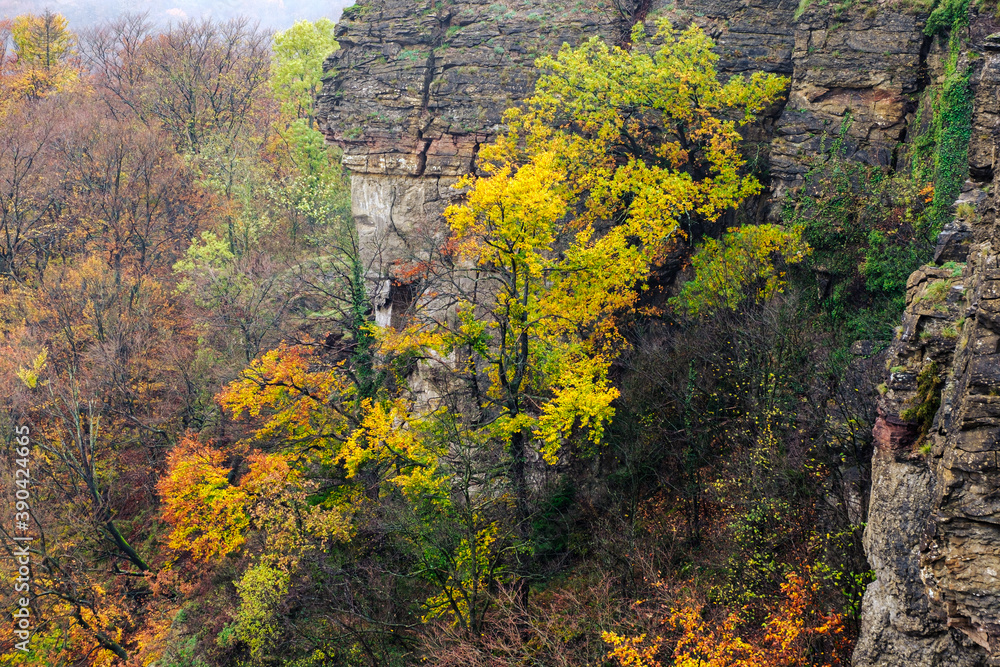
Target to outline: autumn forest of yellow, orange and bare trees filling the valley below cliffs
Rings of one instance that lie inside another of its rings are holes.
[[[963,70],[891,163],[818,133],[765,217],[788,77],[721,76],[690,21],[564,45],[380,319],[315,112],[335,30],[0,23],[4,664],[850,664]]]

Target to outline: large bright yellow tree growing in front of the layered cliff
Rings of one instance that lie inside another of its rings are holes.
[[[636,309],[681,220],[714,221],[759,192],[742,170],[738,128],[787,83],[763,73],[721,83],[696,26],[663,22],[656,37],[638,26],[628,50],[594,38],[538,61],[534,95],[506,113],[508,132],[458,184],[465,202],[445,212],[447,270],[430,272],[410,326],[385,337],[450,378],[421,419],[447,414],[453,440],[493,453],[475,496],[493,485],[509,499],[502,525],[484,534],[494,548],[513,545],[506,572],[522,595],[531,480],[567,448],[600,443],[618,396],[609,369],[625,344],[620,317]]]

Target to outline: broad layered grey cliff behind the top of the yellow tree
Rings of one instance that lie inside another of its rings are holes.
[[[919,16],[890,4],[871,16],[840,15],[815,3],[797,19],[799,4],[654,0],[642,17],[650,30],[660,18],[701,25],[717,42],[723,76],[790,78],[789,104],[748,134],[775,204],[848,113],[851,152],[891,161],[913,112],[907,96],[921,85]],[[530,93],[535,58],[624,32],[610,0],[362,0],[345,11],[317,117],[353,174],[369,263],[386,264],[406,234],[434,225],[504,109]]]

